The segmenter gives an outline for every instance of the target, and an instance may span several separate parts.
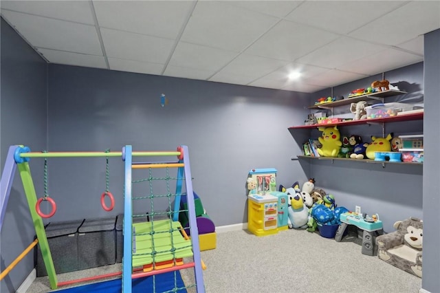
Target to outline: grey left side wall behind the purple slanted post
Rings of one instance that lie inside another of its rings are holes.
[[[10,145],[27,144],[45,149],[47,118],[47,64],[1,19],[1,170]],[[34,176],[43,173],[36,170]],[[41,182],[41,180],[40,180]],[[36,188],[42,184],[35,182]],[[40,189],[41,190],[41,189]],[[35,230],[28,202],[16,172],[0,237],[3,271],[34,241]],[[28,254],[0,283],[0,291],[15,292],[34,267]]]

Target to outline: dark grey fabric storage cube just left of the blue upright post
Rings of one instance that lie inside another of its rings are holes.
[[[116,217],[85,219],[78,229],[78,268],[85,270],[115,263]]]

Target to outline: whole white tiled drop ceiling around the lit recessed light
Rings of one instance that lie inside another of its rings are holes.
[[[312,93],[423,61],[440,1],[1,1],[48,63]],[[299,71],[298,80],[289,72]]]

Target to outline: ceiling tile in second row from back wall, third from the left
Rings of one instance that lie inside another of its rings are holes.
[[[235,52],[180,42],[169,65],[217,72],[235,56]]]

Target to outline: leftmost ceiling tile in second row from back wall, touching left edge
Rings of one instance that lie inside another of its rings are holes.
[[[34,47],[101,55],[96,28],[92,25],[2,10],[2,15]]]

